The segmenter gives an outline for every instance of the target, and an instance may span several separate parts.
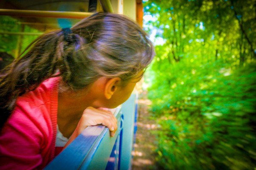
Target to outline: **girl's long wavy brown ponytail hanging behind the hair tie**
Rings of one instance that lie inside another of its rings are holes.
[[[34,90],[50,77],[60,76],[56,74],[58,69],[67,72],[69,67],[62,55],[65,42],[63,36],[58,36],[60,33],[53,31],[38,37],[26,48],[25,51],[30,48],[28,53],[15,59],[0,77],[0,129],[14,110],[18,96]]]

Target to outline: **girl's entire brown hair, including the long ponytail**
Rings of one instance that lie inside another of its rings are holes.
[[[50,77],[60,76],[62,85],[73,91],[103,76],[120,77],[125,83],[154,57],[145,31],[123,15],[96,13],[70,29],[69,34],[58,30],[38,37],[0,77],[0,128],[17,97]]]

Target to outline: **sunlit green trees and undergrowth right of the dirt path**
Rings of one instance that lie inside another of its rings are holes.
[[[256,1],[148,0],[157,167],[256,168]]]

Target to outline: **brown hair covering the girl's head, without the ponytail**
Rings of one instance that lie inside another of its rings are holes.
[[[145,32],[119,14],[97,13],[71,30],[71,43],[65,42],[62,32],[55,34],[60,35],[55,55],[66,61],[59,64],[59,70],[74,90],[99,77],[119,77],[126,83],[146,68],[154,55]]]

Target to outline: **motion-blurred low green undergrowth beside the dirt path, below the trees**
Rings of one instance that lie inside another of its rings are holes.
[[[166,73],[167,77],[155,77],[149,89],[151,110],[161,126],[158,166],[254,169],[256,65],[233,71],[221,62],[189,65],[184,59]]]

